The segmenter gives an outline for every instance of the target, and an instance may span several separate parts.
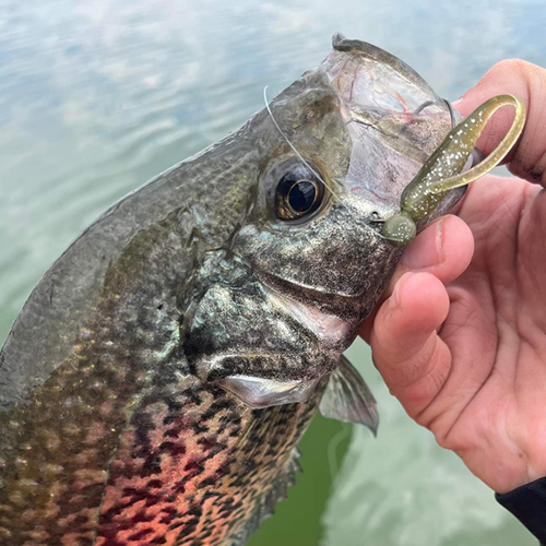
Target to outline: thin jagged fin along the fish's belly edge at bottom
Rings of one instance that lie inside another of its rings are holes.
[[[232,538],[229,546],[244,546],[262,525],[263,521],[275,513],[275,506],[288,496],[288,487],[296,483],[296,472],[300,472],[299,450],[294,448],[284,472],[281,472],[273,486],[257,503],[252,515],[245,524],[245,529]]]

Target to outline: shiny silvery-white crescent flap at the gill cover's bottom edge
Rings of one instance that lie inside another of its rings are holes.
[[[236,375],[223,378],[217,383],[244,404],[253,410],[263,410],[276,405],[307,402],[320,379],[276,381]]]

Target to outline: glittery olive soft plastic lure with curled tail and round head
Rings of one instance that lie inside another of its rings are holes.
[[[500,144],[483,162],[463,171],[472,150],[491,116],[503,106],[513,106],[512,127]],[[489,98],[454,127],[406,186],[400,200],[401,212],[383,226],[383,236],[404,246],[417,234],[416,223],[427,218],[454,188],[466,186],[495,168],[518,141],[525,124],[525,107],[513,95]]]

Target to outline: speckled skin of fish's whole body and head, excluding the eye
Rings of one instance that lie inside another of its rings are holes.
[[[372,221],[451,128],[441,104],[412,115],[429,100],[400,60],[335,36],[272,104],[335,193],[318,214],[271,214],[296,158],[261,111],[70,246],[0,354],[0,544],[245,544],[401,257]],[[230,391],[240,376],[319,382],[257,410]]]

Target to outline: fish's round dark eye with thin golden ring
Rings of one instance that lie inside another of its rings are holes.
[[[275,188],[274,209],[280,219],[290,221],[316,212],[324,198],[324,185],[306,165],[294,165]]]

